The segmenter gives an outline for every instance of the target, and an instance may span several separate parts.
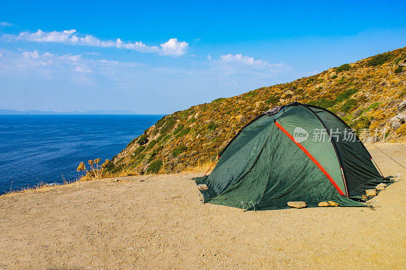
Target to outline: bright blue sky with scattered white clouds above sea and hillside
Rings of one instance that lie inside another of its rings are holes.
[[[404,1],[0,2],[0,108],[171,113],[406,46]]]

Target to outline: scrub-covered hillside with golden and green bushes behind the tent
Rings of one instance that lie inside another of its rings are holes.
[[[250,120],[269,108],[293,101],[328,108],[361,138],[404,140],[406,112],[399,104],[406,97],[405,69],[406,47],[291,83],[174,112],[133,139],[112,159],[107,171],[169,173],[214,161]]]

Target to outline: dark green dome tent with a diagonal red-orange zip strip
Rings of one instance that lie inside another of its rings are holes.
[[[213,172],[196,177],[205,202],[245,209],[309,207],[333,201],[364,206],[365,190],[387,182],[351,128],[331,111],[298,102],[246,125],[219,155]]]

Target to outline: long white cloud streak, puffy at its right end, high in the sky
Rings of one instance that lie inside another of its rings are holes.
[[[81,45],[101,48],[119,48],[136,50],[138,52],[157,53],[159,55],[181,56],[187,52],[189,44],[179,42],[177,38],[171,38],[166,43],[158,46],[147,46],[142,42],[122,42],[120,38],[116,41],[102,41],[90,34],[81,35],[75,29],[64,31],[45,32],[21,32],[19,35],[5,34],[8,41],[30,41],[30,42],[56,42],[69,45]]]

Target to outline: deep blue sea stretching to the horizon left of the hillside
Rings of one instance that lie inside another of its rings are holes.
[[[0,194],[78,178],[80,162],[111,159],[162,115],[0,115]]]

